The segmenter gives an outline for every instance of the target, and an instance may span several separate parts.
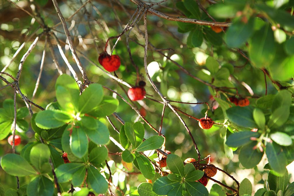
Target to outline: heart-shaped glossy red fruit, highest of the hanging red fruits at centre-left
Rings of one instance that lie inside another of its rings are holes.
[[[117,55],[109,55],[103,52],[98,57],[99,63],[106,69],[106,71],[116,71],[121,65],[121,59]]]

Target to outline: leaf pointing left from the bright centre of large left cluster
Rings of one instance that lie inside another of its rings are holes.
[[[35,118],[36,125],[42,129],[52,129],[58,128],[64,125],[65,123],[57,120],[54,117],[54,114],[62,113],[60,110],[43,110],[40,111]]]

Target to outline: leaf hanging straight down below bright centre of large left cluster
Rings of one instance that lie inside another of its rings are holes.
[[[72,128],[69,146],[71,152],[78,158],[82,158],[88,151],[88,138],[81,128]]]

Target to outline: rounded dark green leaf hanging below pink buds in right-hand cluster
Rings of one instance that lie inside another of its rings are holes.
[[[240,150],[239,161],[245,168],[253,168],[261,161],[263,153],[257,149],[253,150],[254,146],[255,143],[250,143]]]

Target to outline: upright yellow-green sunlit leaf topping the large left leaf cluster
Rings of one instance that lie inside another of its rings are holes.
[[[55,83],[55,91],[57,102],[62,108],[71,113],[77,111],[80,90],[74,78],[66,74],[59,76]]]

